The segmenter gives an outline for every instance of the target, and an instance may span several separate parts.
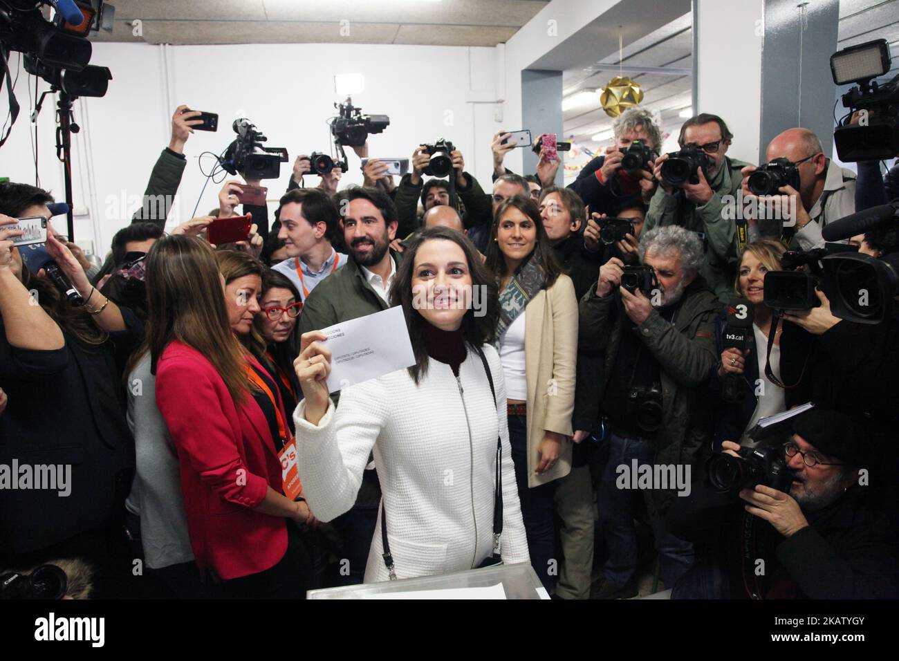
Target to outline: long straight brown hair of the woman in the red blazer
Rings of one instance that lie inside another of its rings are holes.
[[[154,374],[165,347],[178,340],[202,353],[235,402],[243,401],[246,353],[228,323],[218,264],[206,241],[181,234],[156,241],[147,253],[147,309]]]

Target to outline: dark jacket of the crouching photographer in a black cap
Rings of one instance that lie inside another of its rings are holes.
[[[697,544],[696,565],[678,582],[674,598],[899,597],[895,527],[871,507],[870,497],[868,487],[850,487],[832,505],[804,513],[808,527],[785,538],[757,517],[744,531],[743,500],[693,482],[690,496],[674,498],[665,516],[672,534]],[[746,543],[753,553],[744,567]],[[764,572],[757,574],[757,567]]]

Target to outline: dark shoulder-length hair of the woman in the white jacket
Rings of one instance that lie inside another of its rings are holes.
[[[496,325],[499,323],[500,307],[497,296],[496,281],[493,275],[481,263],[481,255],[471,241],[461,232],[449,228],[428,228],[415,235],[409,246],[403,252],[403,260],[396,269],[396,281],[390,288],[390,305],[402,306],[405,315],[405,324],[409,328],[409,337],[412,340],[412,352],[415,356],[415,364],[409,368],[409,374],[417,384],[428,370],[428,350],[424,344],[422,326],[427,323],[421,313],[414,308],[412,280],[415,269],[415,254],[418,249],[428,241],[441,239],[452,241],[462,248],[468,263],[468,272],[471,274],[472,300],[475,299],[476,288],[485,292],[481,297],[485,314],[475,315],[474,305],[462,317],[462,335],[465,342],[473,349],[482,344],[490,344],[494,341]]]

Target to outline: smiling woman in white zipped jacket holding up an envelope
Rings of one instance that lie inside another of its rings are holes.
[[[489,344],[498,314],[494,279],[467,237],[432,228],[406,249],[390,297],[404,308],[416,362],[343,389],[340,408],[325,385],[331,370],[325,335],[314,331],[302,337],[295,368],[305,399],[294,422],[309,507],[322,521],[349,510],[374,451],[396,577],[478,567],[494,551],[498,436],[500,552],[507,564],[528,562],[503,369]],[[495,397],[478,350],[489,365]],[[390,577],[382,558],[381,514],[367,583]]]

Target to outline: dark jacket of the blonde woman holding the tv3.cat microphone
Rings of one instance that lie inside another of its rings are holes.
[[[718,376],[721,367],[721,353],[724,352],[725,326],[727,323],[727,310],[721,311],[715,320],[715,340],[717,361],[712,368],[711,378],[708,380],[709,398],[713,402],[715,411],[715,434],[713,436],[712,449],[720,451],[722,441],[740,442],[743,430],[752,419],[759,398],[755,395],[759,374],[759,353],[764,354],[767,345],[754,346],[746,357],[746,368],[740,377],[744,398],[741,402],[726,402],[722,393],[725,380]],[[781,321],[783,332],[780,335],[780,380],[787,385],[797,384],[795,388],[784,390],[784,398],[787,408],[805,404],[812,399],[813,366],[820,356],[817,353],[817,341],[814,335],[807,333],[805,329],[788,321]],[[749,329],[752,332],[752,329]]]

